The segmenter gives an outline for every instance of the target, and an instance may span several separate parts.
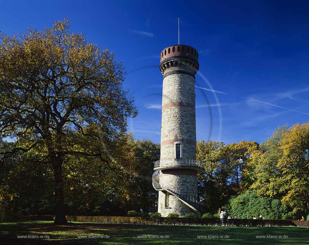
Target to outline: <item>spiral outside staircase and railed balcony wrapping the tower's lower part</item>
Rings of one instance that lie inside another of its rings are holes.
[[[201,214],[205,212],[202,202],[192,195],[185,194],[181,186],[173,186],[169,183],[160,183],[160,175],[162,170],[169,168],[193,168],[197,173],[204,172],[204,164],[195,159],[171,159],[165,161],[156,161],[154,162],[155,168],[154,173],[152,174],[152,185],[157,191],[167,191],[171,195],[178,198],[185,205],[187,205],[194,213]]]

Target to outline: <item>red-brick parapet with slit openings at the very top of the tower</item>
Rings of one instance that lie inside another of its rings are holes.
[[[164,61],[165,59],[178,56],[178,57],[185,57],[198,62],[198,52],[195,48],[188,46],[188,45],[173,45],[167,48],[164,48],[160,55],[160,62]]]

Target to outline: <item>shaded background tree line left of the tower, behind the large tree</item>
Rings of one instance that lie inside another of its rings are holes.
[[[125,215],[128,210],[157,210],[158,193],[151,176],[160,146],[136,140],[131,133],[123,140],[117,151],[121,160],[111,160],[112,168],[93,156],[67,160],[63,171],[66,214]],[[0,165],[0,203],[7,215],[55,212],[53,168],[40,161],[43,151],[15,154]]]

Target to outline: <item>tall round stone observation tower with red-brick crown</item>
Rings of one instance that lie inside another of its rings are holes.
[[[187,45],[174,45],[160,54],[163,74],[161,156],[155,162],[152,184],[159,191],[158,212],[200,216],[197,173],[204,164],[196,160],[195,74],[198,52]]]

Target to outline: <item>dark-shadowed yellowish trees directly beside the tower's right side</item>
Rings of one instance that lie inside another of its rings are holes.
[[[228,145],[197,141],[197,159],[205,164],[205,172],[198,175],[199,193],[207,210],[218,210],[231,196],[248,189],[255,178],[259,154],[259,144],[255,141]]]

